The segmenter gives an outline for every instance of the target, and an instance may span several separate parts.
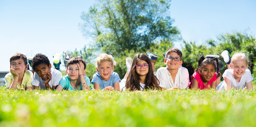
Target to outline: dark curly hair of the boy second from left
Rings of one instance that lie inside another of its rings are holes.
[[[37,55],[32,59],[31,67],[33,68],[33,70],[35,70],[35,67],[42,63],[46,64],[48,67],[50,65],[50,61],[45,55],[37,53]]]

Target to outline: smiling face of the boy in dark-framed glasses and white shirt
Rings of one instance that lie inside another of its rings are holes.
[[[182,65],[182,60],[175,60],[175,59],[172,59],[172,58],[180,58],[180,56],[178,55],[178,53],[176,52],[170,52],[167,56],[166,56],[166,59],[164,59],[164,64],[167,65],[167,69],[168,70],[176,70],[179,68],[179,66]]]

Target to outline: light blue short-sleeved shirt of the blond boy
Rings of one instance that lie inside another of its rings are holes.
[[[119,75],[117,72],[111,72],[110,79],[105,81],[101,78],[100,73],[96,72],[93,75],[92,84],[97,83],[100,85],[100,89],[104,89],[105,87],[112,86],[114,87],[114,84],[117,83],[117,81],[121,81]]]

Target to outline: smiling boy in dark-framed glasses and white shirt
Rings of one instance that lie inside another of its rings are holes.
[[[156,77],[160,81],[161,89],[185,89],[189,84],[188,70],[182,67],[182,52],[175,47],[169,48],[166,52],[164,64],[156,71]]]

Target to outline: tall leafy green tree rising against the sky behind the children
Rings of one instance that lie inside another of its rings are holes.
[[[98,0],[83,12],[84,35],[95,41],[95,49],[119,57],[125,50],[142,49],[161,40],[178,39],[179,31],[172,26],[170,0]]]

